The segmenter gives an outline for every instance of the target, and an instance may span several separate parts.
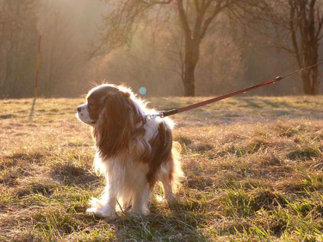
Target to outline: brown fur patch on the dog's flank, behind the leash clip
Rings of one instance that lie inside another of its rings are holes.
[[[147,180],[150,190],[153,189],[156,183],[156,172],[159,171],[161,164],[168,162],[172,157],[172,143],[172,132],[168,130],[164,123],[160,123],[158,134],[149,141],[151,152],[147,157],[143,158],[144,162],[149,163]]]

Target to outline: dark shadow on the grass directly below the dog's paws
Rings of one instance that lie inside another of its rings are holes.
[[[94,226],[106,223],[113,227],[120,241],[206,241],[200,230],[203,227],[203,215],[195,211],[187,211],[186,204],[178,203],[172,211],[157,211],[150,207],[151,214],[141,216],[127,212],[115,218],[99,219],[89,216]]]

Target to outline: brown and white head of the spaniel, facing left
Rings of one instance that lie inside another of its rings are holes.
[[[103,84],[91,89],[86,103],[77,107],[77,117],[93,127],[101,156],[114,157],[129,148],[136,125],[142,122],[134,98],[125,86]]]

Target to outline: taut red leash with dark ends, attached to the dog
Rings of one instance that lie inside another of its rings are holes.
[[[266,85],[271,84],[271,83],[278,82],[278,81],[280,81],[280,80],[282,80],[282,79],[284,79],[284,78],[286,78],[288,76],[294,75],[294,74],[299,73],[299,72],[303,72],[303,71],[305,71],[305,70],[307,70],[309,68],[318,66],[319,64],[322,64],[322,63],[323,63],[323,61],[322,62],[319,62],[319,63],[316,63],[316,64],[314,64],[312,66],[308,66],[308,67],[302,68],[300,70],[297,70],[296,72],[290,73],[290,74],[288,74],[286,76],[279,76],[279,77],[276,77],[274,79],[270,79],[270,80],[267,80],[265,82],[259,83],[257,85],[254,85],[254,86],[251,86],[251,87],[248,87],[248,88],[239,90],[239,91],[235,91],[235,92],[232,92],[232,93],[229,93],[229,94],[220,96],[220,97],[214,97],[214,98],[211,98],[209,100],[205,100],[205,101],[202,101],[202,102],[194,103],[192,105],[188,105],[186,107],[181,107],[181,108],[178,108],[178,109],[172,109],[172,110],[169,110],[169,111],[163,111],[163,112],[160,112],[158,114],[149,115],[149,116],[152,117],[152,118],[155,118],[156,116],[166,117],[166,116],[170,116],[170,115],[173,115],[173,114],[176,114],[176,113],[180,113],[180,112],[184,112],[184,111],[187,111],[187,110],[191,110],[193,108],[197,108],[197,107],[200,107],[200,106],[204,106],[204,105],[209,104],[209,103],[212,103],[212,102],[217,102],[217,101],[223,100],[225,98],[238,95],[240,93],[245,93],[245,92],[251,91],[253,89],[256,89],[256,88],[259,88],[259,87],[263,87],[263,86],[266,86]]]

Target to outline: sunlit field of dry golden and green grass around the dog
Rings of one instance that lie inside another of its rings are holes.
[[[205,98],[151,98],[168,110]],[[173,206],[98,219],[83,99],[0,100],[0,241],[322,241],[323,98],[238,97],[173,116]],[[156,188],[154,195],[161,195]]]

